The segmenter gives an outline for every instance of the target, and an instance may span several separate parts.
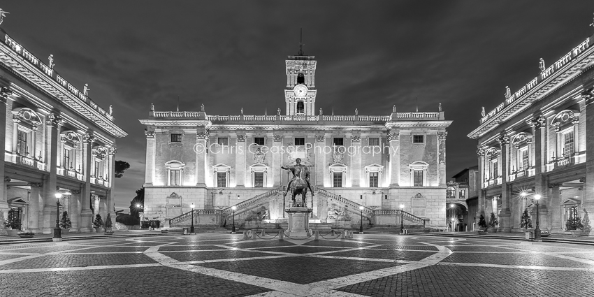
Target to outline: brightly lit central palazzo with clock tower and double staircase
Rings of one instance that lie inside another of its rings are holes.
[[[291,173],[281,166],[300,158],[310,168],[315,196],[307,194],[307,206],[314,219],[345,212],[358,222],[360,212],[370,219],[377,210],[403,205],[428,226],[443,226],[451,121],[441,106],[415,113],[397,113],[394,106],[385,115],[358,115],[353,107],[354,115],[324,115],[315,108],[314,56],[300,51],[285,65],[284,114],[280,108],[275,115],[244,115],[242,109],[240,115],[208,115],[204,105],[197,112],[151,107],[140,119],[147,136],[145,217],[172,219],[194,204],[200,213],[229,214],[237,205],[236,215],[255,208],[282,219]]]

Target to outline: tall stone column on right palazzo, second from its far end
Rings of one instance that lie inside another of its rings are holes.
[[[508,184],[509,179],[509,137],[502,135],[499,138],[501,145],[501,164],[499,166],[501,171],[501,212],[500,212],[500,227],[503,232],[512,232],[512,211],[509,208],[509,200],[512,199],[512,186]]]

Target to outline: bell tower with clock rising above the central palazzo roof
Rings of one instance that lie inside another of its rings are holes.
[[[306,56],[303,43],[299,42],[296,56],[288,56],[285,61],[287,87],[284,89],[284,101],[287,103],[287,115],[314,115],[316,104],[316,61],[315,56]]]

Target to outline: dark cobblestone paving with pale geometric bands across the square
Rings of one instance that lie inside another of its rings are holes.
[[[264,238],[198,233],[1,246],[0,296],[594,296],[592,246],[391,234]]]

